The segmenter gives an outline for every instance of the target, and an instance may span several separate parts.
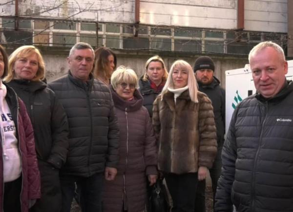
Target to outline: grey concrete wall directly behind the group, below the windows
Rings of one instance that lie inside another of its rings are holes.
[[[55,52],[47,51],[45,48],[41,48],[43,58],[46,64],[46,78],[50,82],[58,77],[62,77],[68,71],[68,64],[66,57],[69,50]],[[12,49],[8,49],[8,53],[11,53]],[[154,55],[158,55],[158,52],[149,51],[125,51],[116,50],[118,66],[124,65],[132,68],[139,77],[145,73],[146,60]],[[60,54],[61,53],[61,54]],[[189,62],[193,67],[195,59],[200,55],[193,54],[172,54],[172,53],[161,53],[159,54],[165,61],[167,70],[170,69],[172,63],[177,59],[184,59]],[[223,87],[225,87],[225,71],[242,68],[248,63],[247,58],[243,57],[223,57],[221,55],[210,56],[215,62],[215,76],[221,81]]]

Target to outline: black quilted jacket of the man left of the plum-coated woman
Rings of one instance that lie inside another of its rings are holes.
[[[70,72],[49,83],[65,109],[69,151],[62,174],[88,177],[118,163],[119,128],[109,88],[90,76],[84,83]]]

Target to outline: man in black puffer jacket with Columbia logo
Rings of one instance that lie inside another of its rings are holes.
[[[236,107],[225,140],[215,212],[293,211],[293,82],[282,48],[249,54],[257,94]]]

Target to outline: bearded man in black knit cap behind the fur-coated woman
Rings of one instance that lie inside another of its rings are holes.
[[[197,58],[193,70],[198,83],[198,90],[210,98],[215,116],[218,150],[213,166],[209,169],[213,198],[215,198],[217,182],[222,168],[221,153],[225,134],[225,90],[220,87],[220,81],[214,77],[214,62],[208,56]],[[199,181],[195,200],[196,212],[206,212],[205,189],[206,180]]]

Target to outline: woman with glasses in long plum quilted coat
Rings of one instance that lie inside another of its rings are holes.
[[[146,205],[146,176],[157,179],[156,141],[137,76],[119,67],[111,77],[111,92],[120,126],[119,164],[115,180],[105,182],[104,212],[142,212]]]

